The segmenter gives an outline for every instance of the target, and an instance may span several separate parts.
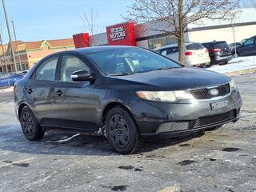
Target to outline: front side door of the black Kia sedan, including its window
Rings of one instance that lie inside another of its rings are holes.
[[[58,125],[63,128],[98,130],[94,123],[94,84],[73,82],[70,76],[76,70],[90,71],[90,67],[76,55],[63,54],[58,71],[59,79],[54,88],[55,118],[58,118]]]

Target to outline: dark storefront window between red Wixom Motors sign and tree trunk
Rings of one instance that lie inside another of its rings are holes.
[[[166,36],[162,38],[151,38],[148,40],[149,49],[154,50],[162,46],[170,45],[172,43],[177,43],[177,38]]]

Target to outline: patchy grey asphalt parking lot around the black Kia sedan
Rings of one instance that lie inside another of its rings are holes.
[[[148,139],[139,154],[105,138],[47,132],[29,142],[0,90],[0,191],[256,191],[256,74],[234,77],[242,118],[186,138]]]

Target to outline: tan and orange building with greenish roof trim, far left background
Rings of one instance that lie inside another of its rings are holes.
[[[12,42],[17,70],[29,70],[34,63],[48,54],[62,50],[73,50],[73,38],[42,40],[38,42]],[[0,72],[14,72],[14,62],[11,57],[10,44],[0,45]]]

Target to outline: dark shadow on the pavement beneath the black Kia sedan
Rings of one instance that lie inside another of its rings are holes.
[[[26,140],[19,126],[0,129],[0,150],[9,150],[26,154],[54,154],[54,155],[94,155],[114,156],[117,154],[112,150],[109,142],[103,136],[74,134],[57,131],[47,131],[44,138],[38,142]],[[3,136],[4,135],[4,136]],[[201,134],[193,134],[182,138],[150,138],[142,140],[139,153],[158,150],[166,146],[178,145],[191,138],[201,137]]]

